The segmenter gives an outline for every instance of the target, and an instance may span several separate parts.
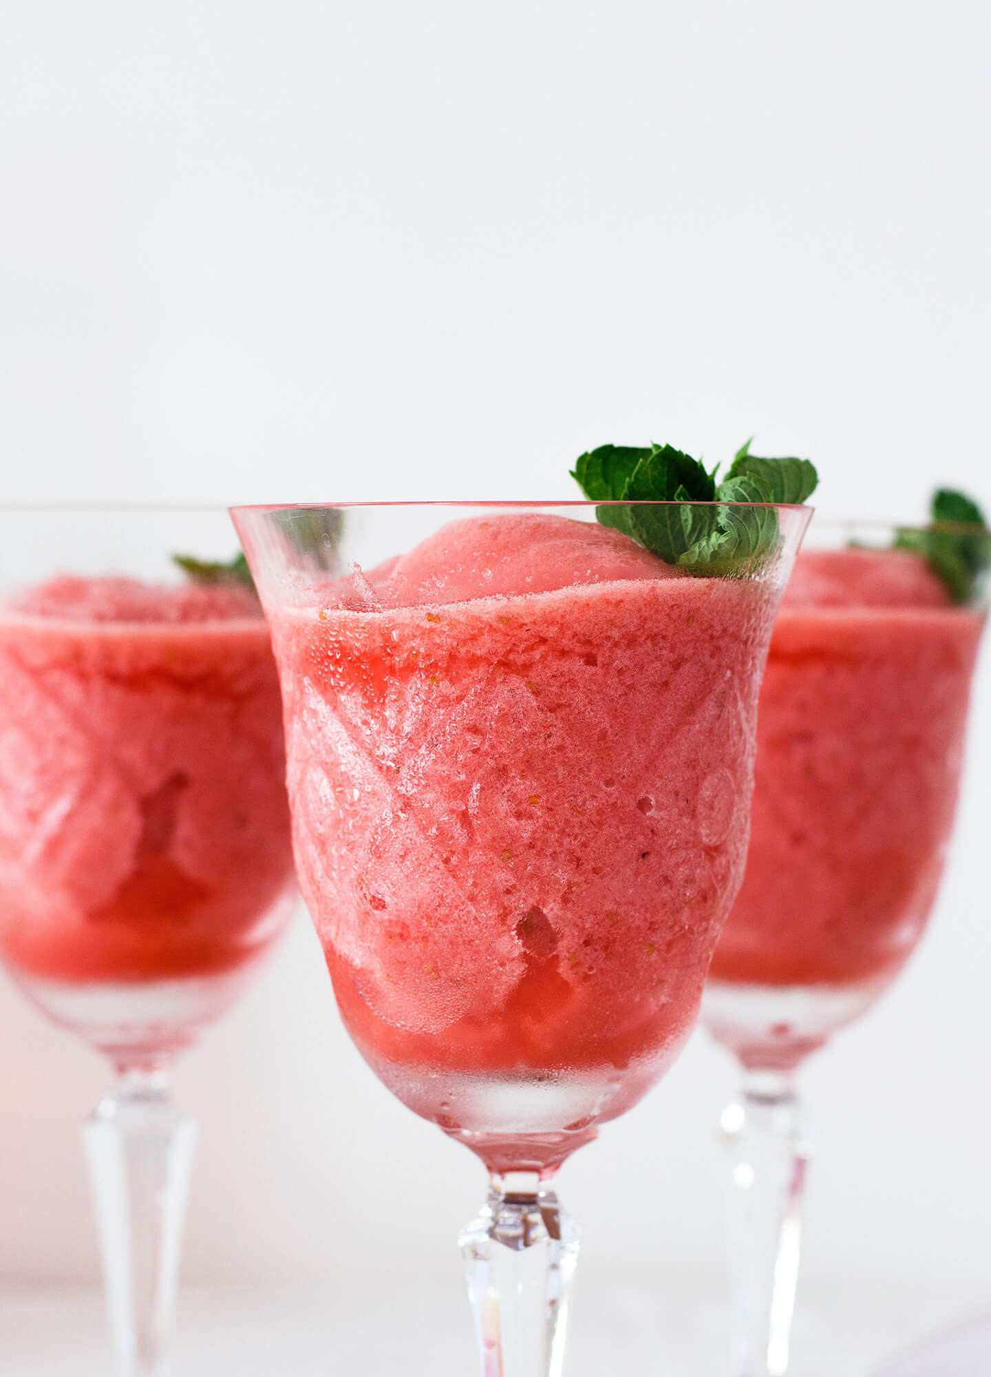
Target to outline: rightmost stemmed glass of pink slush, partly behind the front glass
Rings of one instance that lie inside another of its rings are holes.
[[[970,532],[944,527],[987,540]],[[797,1071],[896,978],[943,870],[984,611],[951,602],[930,538],[813,522],[771,640],[746,876],[702,1000],[743,1070],[723,1115],[734,1377],[789,1365],[812,1154]]]

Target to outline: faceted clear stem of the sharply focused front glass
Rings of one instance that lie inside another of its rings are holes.
[[[578,1234],[535,1172],[493,1176],[460,1238],[482,1377],[562,1377]]]

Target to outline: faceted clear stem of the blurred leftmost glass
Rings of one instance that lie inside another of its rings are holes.
[[[120,1069],[83,1128],[120,1377],[167,1377],[197,1126],[162,1069]]]

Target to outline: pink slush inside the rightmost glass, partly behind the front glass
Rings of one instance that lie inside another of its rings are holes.
[[[918,555],[798,556],[761,690],[746,877],[714,978],[844,985],[897,971],[943,869],[981,627]]]

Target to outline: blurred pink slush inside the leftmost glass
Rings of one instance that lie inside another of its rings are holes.
[[[281,702],[235,587],[61,577],[0,613],[0,954],[61,982],[227,971],[292,874]]]

